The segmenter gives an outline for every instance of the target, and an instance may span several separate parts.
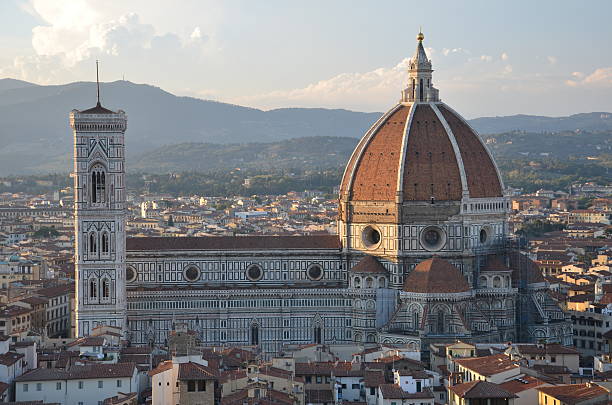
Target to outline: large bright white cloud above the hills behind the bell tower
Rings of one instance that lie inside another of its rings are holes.
[[[202,25],[161,31],[141,15],[144,0],[30,0],[22,9],[40,21],[32,29],[32,48],[11,56],[0,66],[0,75],[41,84],[91,77],[94,59],[103,63],[103,77],[149,81],[157,85],[187,87],[203,59],[218,52],[214,35]],[[188,6],[186,6],[188,7]],[[169,13],[174,13],[174,8]],[[150,14],[150,13],[149,13]],[[153,17],[154,14],[151,14]],[[208,18],[208,17],[207,17]],[[158,18],[159,19],[159,18]],[[191,14],[185,20],[194,21]],[[202,23],[206,23],[204,17]],[[159,22],[158,22],[159,24]],[[176,61],[181,61],[177,65]],[[169,79],[168,72],[173,72]],[[199,73],[199,72],[198,72]],[[166,82],[167,81],[167,82]]]

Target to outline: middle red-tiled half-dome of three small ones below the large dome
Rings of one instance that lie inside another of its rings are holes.
[[[459,269],[439,257],[419,263],[404,281],[404,291],[413,293],[461,293],[470,290]]]

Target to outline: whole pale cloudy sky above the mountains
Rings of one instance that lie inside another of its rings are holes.
[[[612,111],[612,1],[0,0],[0,78],[385,111],[420,27],[467,118]]]

